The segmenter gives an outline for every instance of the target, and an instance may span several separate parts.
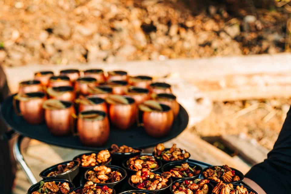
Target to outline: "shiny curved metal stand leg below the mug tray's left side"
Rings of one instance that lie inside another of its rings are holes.
[[[15,143],[13,145],[13,155],[14,155],[16,161],[20,164],[23,171],[26,173],[29,181],[34,185],[38,181],[35,179],[35,176],[33,175],[32,171],[25,163],[23,156],[21,154],[20,144],[21,144],[22,139],[23,139],[23,136],[19,135],[17,141],[15,141]]]

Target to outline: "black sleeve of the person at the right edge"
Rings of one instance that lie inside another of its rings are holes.
[[[245,177],[256,182],[267,194],[291,193],[291,109],[268,158],[253,166]]]

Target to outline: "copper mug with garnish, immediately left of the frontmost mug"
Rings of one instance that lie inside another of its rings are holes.
[[[50,99],[54,100],[54,99]],[[49,132],[55,136],[64,136],[73,133],[75,109],[70,101],[60,101],[64,108],[48,108],[46,105],[50,100],[46,100],[43,104],[45,109],[45,122]]]

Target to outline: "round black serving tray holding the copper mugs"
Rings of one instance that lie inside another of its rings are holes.
[[[78,136],[65,136],[56,137],[53,136],[45,123],[40,125],[28,124],[22,116],[17,116],[14,112],[12,105],[13,95],[9,96],[1,105],[1,115],[3,120],[8,126],[10,126],[15,132],[23,136],[27,136],[32,139],[49,143],[56,146],[62,146],[72,149],[82,150],[101,150],[109,148],[113,143],[121,146],[127,145],[135,148],[146,148],[155,146],[158,143],[166,142],[170,139],[175,138],[179,135],[188,125],[188,114],[186,110],[180,105],[179,115],[177,115],[172,129],[169,134],[162,138],[153,138],[146,134],[142,127],[133,126],[131,129],[126,131],[120,131],[114,127],[110,127],[110,136],[108,142],[102,147],[88,147],[84,146],[79,140]]]

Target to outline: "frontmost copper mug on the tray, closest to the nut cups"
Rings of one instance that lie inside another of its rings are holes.
[[[100,116],[90,118],[90,115],[94,114]],[[102,146],[109,139],[108,117],[105,112],[99,110],[82,111],[78,115],[77,130],[84,145],[90,147]]]

